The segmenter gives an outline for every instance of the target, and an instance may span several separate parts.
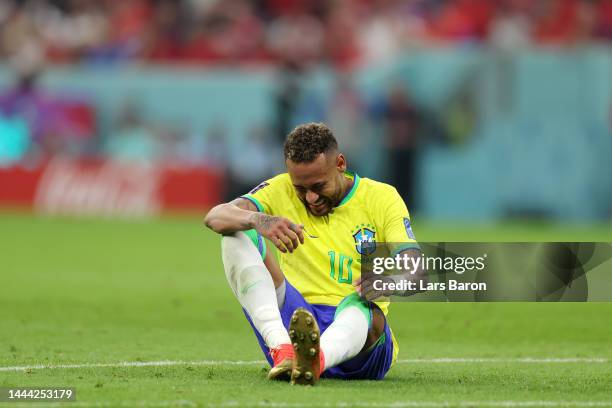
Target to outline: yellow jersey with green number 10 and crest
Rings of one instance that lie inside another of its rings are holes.
[[[304,245],[293,253],[279,252],[280,268],[310,304],[337,306],[355,292],[361,274],[361,243],[406,243],[418,248],[408,210],[394,187],[346,173],[353,187],[333,212],[314,216],[298,198],[289,174],[280,174],[255,187],[244,198],[260,212],[303,224]],[[311,238],[308,235],[316,236]],[[387,314],[388,303],[378,306]]]

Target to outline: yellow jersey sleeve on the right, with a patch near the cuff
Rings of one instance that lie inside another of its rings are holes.
[[[419,249],[412,232],[408,208],[397,190],[389,186],[385,193],[381,194],[381,198],[379,211],[383,220],[385,242],[394,244],[394,253],[406,249]]]

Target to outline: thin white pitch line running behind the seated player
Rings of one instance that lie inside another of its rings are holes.
[[[504,363],[504,364],[564,364],[564,363],[607,363],[601,357],[591,358],[415,358],[398,360],[397,364],[461,364],[461,363]],[[30,366],[0,367],[2,371],[72,369],[72,368],[121,368],[121,367],[163,367],[163,366],[246,366],[266,364],[265,360],[200,360],[200,361],[122,361],[117,363],[85,364],[37,364]]]

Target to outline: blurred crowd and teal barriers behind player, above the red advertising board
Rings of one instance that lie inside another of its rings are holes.
[[[0,166],[205,165],[325,121],[431,219],[609,219],[611,0],[0,0]]]

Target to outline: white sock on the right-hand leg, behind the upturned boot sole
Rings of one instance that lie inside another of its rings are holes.
[[[365,345],[367,336],[368,319],[359,308],[348,306],[341,311],[321,335],[325,369],[355,357]]]

